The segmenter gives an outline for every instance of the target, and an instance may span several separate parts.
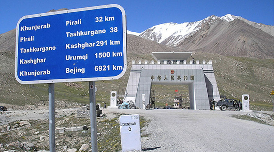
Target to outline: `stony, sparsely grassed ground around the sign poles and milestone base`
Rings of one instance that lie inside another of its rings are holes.
[[[97,118],[97,140],[98,151],[114,152],[121,150],[121,137],[120,137],[120,125],[119,116],[124,115],[122,113],[114,113],[114,116],[99,117]],[[114,117],[113,119],[111,119]],[[19,124],[20,121],[12,122],[6,125],[0,126],[0,130],[6,130],[7,126],[14,126]],[[30,142],[33,143],[37,150],[49,150],[49,126],[48,121],[45,120],[30,120],[30,126],[19,127],[19,129],[0,133],[0,143],[4,144],[4,148],[7,150],[22,150],[19,147],[9,146],[6,144],[14,141]],[[149,123],[148,119],[140,116],[140,130],[143,131],[143,127]],[[58,127],[74,127],[74,126],[90,126],[90,118],[78,118],[72,112],[70,115],[58,117],[55,119],[55,126]],[[38,134],[34,134],[39,131]],[[83,132],[82,132],[83,131]],[[40,137],[44,136],[42,140]],[[70,148],[79,148],[84,143],[90,143],[90,128],[89,130],[80,130],[74,132],[64,132],[55,134],[56,151],[63,151],[64,146]],[[149,135],[145,135],[149,136]]]

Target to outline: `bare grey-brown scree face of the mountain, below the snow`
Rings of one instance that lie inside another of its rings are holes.
[[[273,36],[244,21],[235,19],[224,22],[216,19],[211,26],[202,24],[201,29],[177,47],[224,56],[273,58],[273,42]]]

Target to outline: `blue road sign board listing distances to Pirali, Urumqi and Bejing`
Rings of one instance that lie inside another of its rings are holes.
[[[121,78],[127,67],[125,10],[116,4],[23,16],[16,26],[21,84]]]

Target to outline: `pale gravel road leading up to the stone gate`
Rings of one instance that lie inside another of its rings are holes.
[[[139,114],[151,122],[142,134],[143,151],[274,151],[274,128],[232,118],[239,111],[104,109]]]

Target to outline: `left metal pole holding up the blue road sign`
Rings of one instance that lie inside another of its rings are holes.
[[[55,152],[54,83],[48,84],[48,120],[50,152]]]

